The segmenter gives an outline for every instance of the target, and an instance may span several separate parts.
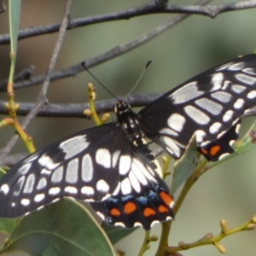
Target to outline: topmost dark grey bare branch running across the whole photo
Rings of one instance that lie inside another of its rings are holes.
[[[161,3],[160,3],[161,2]],[[88,18],[80,18],[72,20],[69,23],[67,29],[74,29],[79,26],[88,26],[96,23],[113,21],[113,20],[127,20],[133,17],[141,15],[152,14],[189,14],[189,15],[205,15],[210,18],[215,18],[217,15],[228,11],[251,9],[256,7],[256,1],[241,1],[238,3],[226,3],[219,5],[208,5],[202,7],[200,4],[196,5],[179,5],[179,4],[162,4],[164,1],[154,1],[153,3],[147,3],[143,6],[126,9],[124,11],[110,13],[108,15],[96,15]],[[201,1],[203,2],[203,1]],[[19,40],[24,38],[31,38],[44,34],[57,32],[60,28],[60,24],[50,24],[48,26],[38,26],[32,28],[26,28],[19,32]],[[9,44],[9,34],[3,34],[0,36],[0,44]]]

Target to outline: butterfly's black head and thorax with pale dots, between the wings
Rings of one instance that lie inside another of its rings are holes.
[[[139,125],[137,113],[134,113],[125,102],[116,103],[113,112],[116,113],[117,122],[122,126],[130,141],[136,146],[143,144],[144,135]]]

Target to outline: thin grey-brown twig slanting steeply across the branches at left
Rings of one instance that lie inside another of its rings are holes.
[[[32,119],[34,119],[37,116],[38,112],[40,112],[40,110],[42,108],[44,108],[44,106],[48,103],[46,95],[47,95],[47,90],[49,88],[50,74],[54,70],[57,57],[60,53],[61,44],[62,44],[64,35],[66,33],[66,30],[67,30],[71,3],[72,3],[72,0],[67,0],[66,1],[65,12],[64,12],[63,20],[61,22],[61,29],[60,29],[59,36],[58,36],[56,44],[55,44],[53,55],[52,55],[51,60],[49,62],[49,68],[48,68],[48,71],[46,73],[46,77],[44,78],[44,84],[43,84],[42,89],[39,93],[37,102],[35,103],[34,107],[31,109],[31,111],[27,114],[26,119],[22,123],[23,129],[26,128],[26,126],[32,121]],[[18,139],[17,135],[13,136],[9,140],[9,142],[3,148],[1,148],[1,150],[0,150],[0,162],[5,158],[5,156],[7,154],[9,154],[9,151],[11,150],[11,148],[13,148],[17,139]]]

